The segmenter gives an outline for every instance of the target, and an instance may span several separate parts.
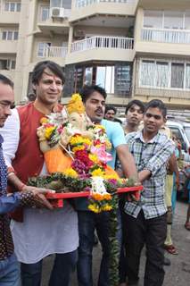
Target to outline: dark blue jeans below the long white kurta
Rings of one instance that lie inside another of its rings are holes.
[[[70,274],[77,264],[78,252],[56,254],[54,267],[50,276],[49,286],[69,286]],[[40,286],[42,274],[42,260],[34,264],[21,263],[22,286]]]

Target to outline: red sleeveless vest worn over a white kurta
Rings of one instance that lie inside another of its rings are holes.
[[[62,106],[58,105],[58,110],[61,109]],[[21,122],[20,142],[12,167],[19,179],[27,183],[29,177],[39,175],[44,164],[44,155],[39,149],[37,139],[37,127],[45,114],[37,111],[33,103],[18,107],[18,113]],[[15,221],[23,222],[22,208],[18,207],[11,216]]]

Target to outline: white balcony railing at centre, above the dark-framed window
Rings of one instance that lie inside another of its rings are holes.
[[[71,44],[71,53],[87,51],[93,48],[115,48],[132,50],[134,38],[100,37],[85,38]]]

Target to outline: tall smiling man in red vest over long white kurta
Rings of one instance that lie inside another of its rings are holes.
[[[32,72],[36,100],[15,108],[4,125],[4,158],[12,192],[30,190],[29,178],[47,173],[37,128],[45,115],[62,111],[59,100],[63,84],[60,65],[51,61],[37,63]],[[12,237],[21,262],[22,286],[40,285],[43,258],[50,254],[55,258],[48,285],[69,285],[78,248],[78,216],[69,202],[53,210],[38,204],[37,208],[17,209],[12,214]]]

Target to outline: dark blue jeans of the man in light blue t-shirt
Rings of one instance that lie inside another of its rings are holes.
[[[92,252],[95,229],[103,250],[98,286],[109,285],[109,223],[109,212],[95,214],[89,211],[78,211],[78,286],[93,286]]]

